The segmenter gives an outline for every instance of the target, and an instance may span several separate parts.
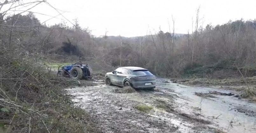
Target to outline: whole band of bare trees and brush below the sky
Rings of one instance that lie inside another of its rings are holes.
[[[247,76],[255,75],[256,20],[209,24],[205,28],[196,21],[192,34],[177,35],[159,29],[157,33],[127,38],[94,37],[77,21],[73,27],[65,23],[46,26],[33,13],[8,17],[0,25],[1,49],[73,55],[115,67],[141,66],[167,77],[208,77],[216,70],[236,73],[237,68]]]

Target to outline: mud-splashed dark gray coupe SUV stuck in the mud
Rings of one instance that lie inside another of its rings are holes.
[[[119,67],[113,72],[106,73],[105,81],[107,85],[131,86],[133,88],[155,88],[156,77],[149,70],[125,66]]]

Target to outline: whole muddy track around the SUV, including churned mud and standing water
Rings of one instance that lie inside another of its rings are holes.
[[[98,85],[66,89],[75,105],[90,112],[100,128],[115,132],[256,132],[256,104],[218,88],[194,87],[157,79],[154,90],[117,93],[122,88]],[[198,92],[203,95],[195,95]],[[135,109],[138,104],[150,111]]]

